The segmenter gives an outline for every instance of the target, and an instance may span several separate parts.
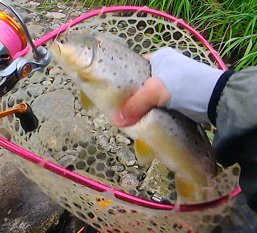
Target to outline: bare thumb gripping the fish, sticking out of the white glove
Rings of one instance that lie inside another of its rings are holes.
[[[138,92],[119,109],[113,118],[117,127],[132,126],[154,106],[163,106],[170,99],[164,83],[158,78],[149,78]]]

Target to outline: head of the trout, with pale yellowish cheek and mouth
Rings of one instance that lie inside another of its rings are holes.
[[[94,61],[97,41],[88,35],[60,34],[51,41],[50,50],[54,57],[72,71],[81,71]]]

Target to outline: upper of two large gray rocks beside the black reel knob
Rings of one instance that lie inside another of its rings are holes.
[[[31,108],[40,122],[49,118],[72,117],[74,116],[74,96],[66,90],[48,92],[36,98]]]

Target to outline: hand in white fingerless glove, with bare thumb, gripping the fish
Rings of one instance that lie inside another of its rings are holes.
[[[152,65],[152,78],[127,100],[113,118],[117,127],[135,124],[155,106],[176,109],[200,123],[209,123],[208,104],[223,70],[190,59],[170,47],[143,56]]]

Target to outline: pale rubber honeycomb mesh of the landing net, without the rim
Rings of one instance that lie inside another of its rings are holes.
[[[186,56],[216,66],[210,51],[176,22],[149,13],[115,12],[95,16],[69,28],[75,34],[112,37],[138,53],[171,46]],[[65,104],[60,104],[65,99]],[[140,198],[177,203],[172,171],[154,160],[150,167],[138,164],[134,141],[93,108],[85,111],[79,90],[52,60],[45,72],[34,73],[2,98],[1,111],[20,102],[31,105],[39,128],[25,133],[19,119],[1,119],[0,133],[15,144],[54,164]],[[233,200],[205,211],[177,213],[151,210],[115,198],[111,191],[98,192],[51,173],[9,152],[22,172],[60,205],[102,232],[210,232],[224,225]],[[216,198],[238,186],[240,166],[219,166]]]

